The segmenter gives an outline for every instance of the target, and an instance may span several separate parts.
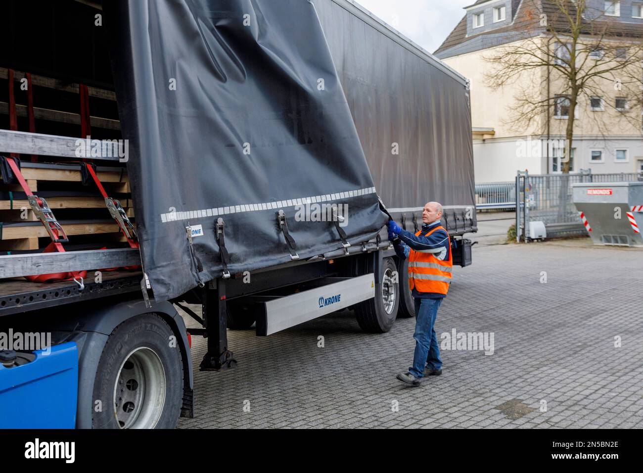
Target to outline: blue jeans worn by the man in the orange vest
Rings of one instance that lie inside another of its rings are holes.
[[[415,299],[415,354],[408,371],[416,378],[422,378],[425,365],[431,369],[442,368],[438,337],[433,329],[440,304],[442,299]]]

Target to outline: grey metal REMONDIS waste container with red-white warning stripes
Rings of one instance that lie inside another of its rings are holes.
[[[643,182],[576,183],[573,199],[594,245],[643,246]]]

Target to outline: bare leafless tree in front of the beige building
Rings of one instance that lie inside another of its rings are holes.
[[[574,116],[583,100],[597,105],[592,99],[597,101],[606,88],[613,88],[627,100],[601,106],[618,112],[610,113],[611,120],[616,116],[617,120],[636,122],[640,130],[643,28],[617,21],[609,10],[592,8],[594,3],[523,0],[522,19],[508,33],[511,43],[485,55],[489,64],[485,82],[489,88],[518,86],[509,113],[512,127],[525,130],[541,125],[552,112],[568,117],[565,154],[561,158],[564,173],[570,171]],[[616,4],[613,8],[618,8]],[[525,77],[530,80],[525,81]],[[632,113],[634,109],[638,109],[637,113]],[[599,116],[593,118],[597,122],[605,119],[605,115]]]

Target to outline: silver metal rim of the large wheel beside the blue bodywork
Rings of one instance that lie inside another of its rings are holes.
[[[165,369],[154,350],[132,350],[114,384],[114,416],[121,429],[154,429],[165,405]]]

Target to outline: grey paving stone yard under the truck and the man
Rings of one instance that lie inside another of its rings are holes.
[[[640,428],[642,281],[640,249],[474,246],[435,329],[493,332],[493,355],[442,350],[442,376],[413,388],[395,375],[412,362],[415,319],[383,335],[349,311],[265,338],[228,331],[239,365],[222,373],[199,371],[194,337],[195,417],[179,427]]]

